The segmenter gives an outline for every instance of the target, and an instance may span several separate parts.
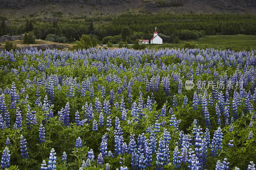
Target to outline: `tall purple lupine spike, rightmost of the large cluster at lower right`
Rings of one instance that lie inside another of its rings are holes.
[[[222,149],[222,138],[223,133],[219,127],[213,134],[212,144],[211,144],[211,155],[216,156],[218,151]]]

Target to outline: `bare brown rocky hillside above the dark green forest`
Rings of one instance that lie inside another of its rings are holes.
[[[171,7],[171,10],[179,10],[179,12],[244,12],[244,13],[256,13],[256,0],[164,0],[182,2],[181,7]],[[112,11],[112,13],[126,11],[127,9],[144,8],[148,11],[159,11],[159,5],[157,0],[0,0],[0,9],[15,9],[23,10],[27,6],[40,7],[40,5],[62,5],[65,9],[65,5],[93,5],[101,6],[98,11]],[[126,4],[126,5],[124,5]],[[130,5],[127,5],[130,4]],[[109,9],[109,7],[112,7]],[[90,9],[90,7],[88,7]],[[166,7],[162,7],[165,9]],[[89,10],[87,9],[87,10]],[[118,10],[117,10],[118,9]],[[168,8],[170,9],[170,8]],[[27,10],[27,9],[26,9]],[[95,10],[95,9],[94,9]],[[96,8],[97,10],[97,8]],[[83,11],[83,9],[76,8],[77,12]]]

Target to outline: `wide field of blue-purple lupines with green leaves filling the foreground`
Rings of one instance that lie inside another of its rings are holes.
[[[255,52],[1,52],[1,168],[255,170]]]

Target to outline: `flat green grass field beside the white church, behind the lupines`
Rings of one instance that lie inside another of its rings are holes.
[[[186,42],[195,45],[195,48],[215,48],[215,49],[232,49],[235,51],[256,49],[255,35],[205,35],[197,40],[180,41],[179,44],[149,44],[147,48],[183,48]]]

